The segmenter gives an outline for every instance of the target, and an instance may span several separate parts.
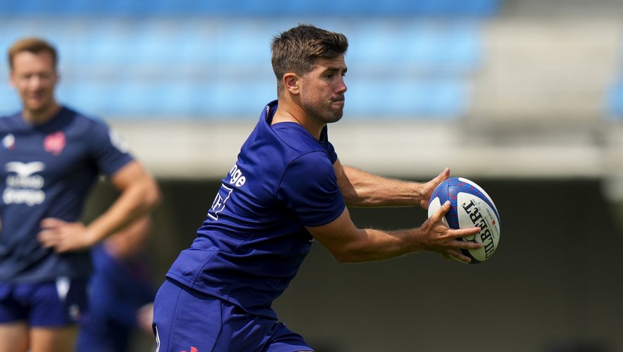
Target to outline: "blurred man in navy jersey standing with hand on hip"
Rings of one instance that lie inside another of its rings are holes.
[[[0,118],[0,352],[72,351],[87,310],[89,248],[149,213],[160,190],[105,123],[57,103],[53,46],[18,40],[8,64],[23,107]],[[84,225],[101,174],[120,196]]]

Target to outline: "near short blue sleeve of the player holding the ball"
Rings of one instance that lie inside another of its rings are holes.
[[[346,207],[326,153],[307,153],[286,168],[277,197],[306,226],[332,222]]]

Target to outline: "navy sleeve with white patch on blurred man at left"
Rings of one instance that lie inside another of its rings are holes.
[[[96,121],[92,127],[91,151],[94,162],[106,176],[112,176],[134,160],[129,148],[106,123]]]

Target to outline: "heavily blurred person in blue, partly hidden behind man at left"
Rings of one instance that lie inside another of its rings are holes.
[[[130,351],[135,332],[151,335],[156,291],[144,253],[150,234],[151,218],[145,216],[93,247],[89,314],[76,351]]]

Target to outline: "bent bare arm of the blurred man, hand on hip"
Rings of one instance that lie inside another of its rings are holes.
[[[42,245],[54,247],[57,252],[87,249],[146,215],[160,201],[156,180],[138,161],[132,161],[115,172],[111,183],[121,191],[120,196],[88,226],[56,218],[42,220],[42,231],[38,236]]]

